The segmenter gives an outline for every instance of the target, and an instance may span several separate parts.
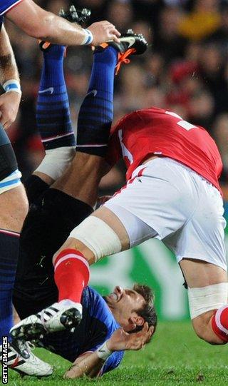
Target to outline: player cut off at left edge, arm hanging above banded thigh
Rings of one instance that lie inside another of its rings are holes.
[[[28,210],[21,173],[5,132],[15,120],[21,100],[19,72],[0,16],[0,339],[13,325],[12,291],[19,252],[19,234]]]

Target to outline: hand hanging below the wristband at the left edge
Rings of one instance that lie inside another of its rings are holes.
[[[0,123],[5,130],[15,121],[20,101],[21,94],[15,91],[10,91],[0,96]]]

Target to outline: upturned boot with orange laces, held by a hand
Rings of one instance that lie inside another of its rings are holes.
[[[148,46],[145,37],[142,34],[134,34],[132,29],[128,29],[126,34],[120,36],[119,40],[120,43],[110,40],[94,48],[94,52],[96,52],[103,51],[108,46],[111,46],[118,51],[118,64],[115,67],[115,75],[118,74],[121,64],[130,63],[128,58],[130,55],[144,54]]]

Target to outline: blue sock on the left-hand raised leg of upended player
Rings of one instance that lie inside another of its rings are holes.
[[[75,146],[63,74],[64,52],[65,47],[57,45],[43,52],[36,121],[45,150]]]

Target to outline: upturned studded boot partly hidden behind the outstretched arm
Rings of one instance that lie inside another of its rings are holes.
[[[90,19],[90,15],[90,9],[76,9],[76,7],[73,5],[70,7],[69,11],[64,11],[64,9],[61,9],[58,12],[58,16],[63,17],[63,19],[71,21],[71,23],[77,23],[80,25],[86,24],[88,19]],[[46,51],[50,46],[51,43],[49,43],[48,41],[42,40],[39,42],[39,47],[41,51]]]

